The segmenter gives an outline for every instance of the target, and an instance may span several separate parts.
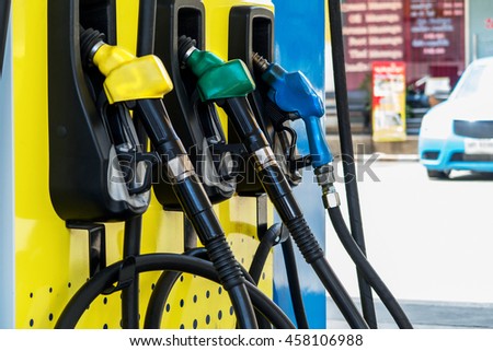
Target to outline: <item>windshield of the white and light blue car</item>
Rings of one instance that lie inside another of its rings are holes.
[[[454,92],[454,98],[485,97],[491,98],[493,86],[492,62],[470,66]]]

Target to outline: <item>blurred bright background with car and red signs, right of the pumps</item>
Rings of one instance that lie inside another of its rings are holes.
[[[493,2],[343,0],[342,11],[369,260],[416,327],[491,328]],[[330,59],[325,83],[337,154]],[[354,267],[326,232],[328,257],[357,295]]]

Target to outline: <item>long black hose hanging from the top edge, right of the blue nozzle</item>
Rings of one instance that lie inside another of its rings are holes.
[[[351,233],[362,253],[366,256],[363,232],[362,210],[359,207],[356,167],[354,164],[353,137],[351,132],[349,108],[347,103],[347,83],[344,60],[344,38],[340,0],[328,0],[329,23],[331,28],[332,66],[334,70],[335,103],[337,106],[339,140],[341,144],[344,183],[351,221]],[[360,272],[357,272],[363,315],[370,328],[377,328],[377,316],[371,288]]]

